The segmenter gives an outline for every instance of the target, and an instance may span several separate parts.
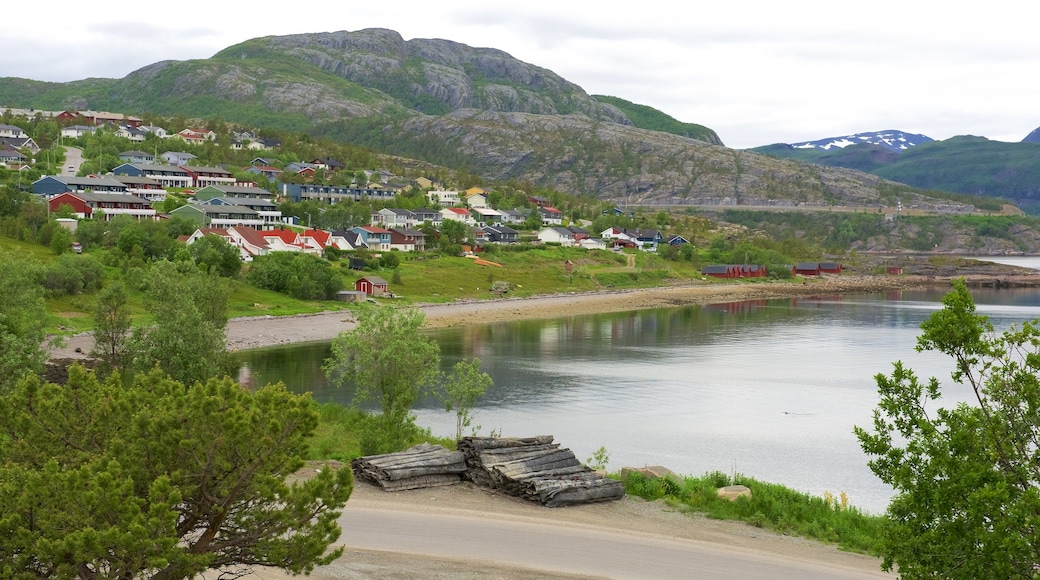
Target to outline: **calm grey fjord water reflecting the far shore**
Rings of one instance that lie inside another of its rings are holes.
[[[740,473],[813,495],[844,491],[881,512],[891,490],[866,466],[853,426],[868,427],[874,376],[901,360],[937,377],[945,402],[968,400],[950,361],[914,350],[942,289],[830,295],[516,321],[433,332],[448,370],[479,358],[494,387],[480,432],[552,434],[579,458],[604,446],[608,468],[662,465],[680,474]],[[973,290],[997,328],[1040,316],[1034,289]],[[256,384],[284,380],[348,403],[320,371],[328,344],[244,352]],[[416,411],[437,434],[454,416]]]

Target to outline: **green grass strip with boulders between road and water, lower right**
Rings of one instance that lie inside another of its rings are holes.
[[[864,513],[849,505],[842,494],[814,497],[776,483],[750,477],[713,472],[701,477],[648,479],[632,474],[624,480],[629,495],[667,503],[687,512],[703,513],[718,520],[736,520],[784,534],[796,534],[830,544],[840,549],[876,554],[885,519]],[[751,498],[729,501],[717,490],[726,485],[746,485]]]

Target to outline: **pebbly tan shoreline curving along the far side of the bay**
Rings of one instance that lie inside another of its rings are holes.
[[[629,312],[658,308],[738,302],[745,300],[811,296],[821,294],[873,293],[910,288],[948,286],[948,278],[911,275],[824,275],[795,282],[699,282],[631,290],[612,290],[528,297],[457,300],[417,304],[426,316],[426,328],[446,328],[515,320],[536,320]],[[1040,286],[1040,274],[978,276],[966,279],[969,286]],[[288,344],[326,342],[355,326],[350,311],[326,311],[292,316],[250,316],[233,318],[227,325],[228,350],[253,350]],[[94,346],[90,333],[67,337],[64,346],[49,349],[51,360],[85,360]]]

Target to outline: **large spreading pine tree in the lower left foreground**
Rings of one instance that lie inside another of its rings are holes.
[[[309,395],[231,379],[129,386],[81,366],[0,395],[0,576],[192,578],[252,565],[306,573],[342,552],[349,468],[304,482]]]

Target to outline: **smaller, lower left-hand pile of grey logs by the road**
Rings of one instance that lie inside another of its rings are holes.
[[[350,462],[354,473],[385,492],[451,485],[462,481],[467,470],[461,451],[423,443],[384,455],[368,455]]]

